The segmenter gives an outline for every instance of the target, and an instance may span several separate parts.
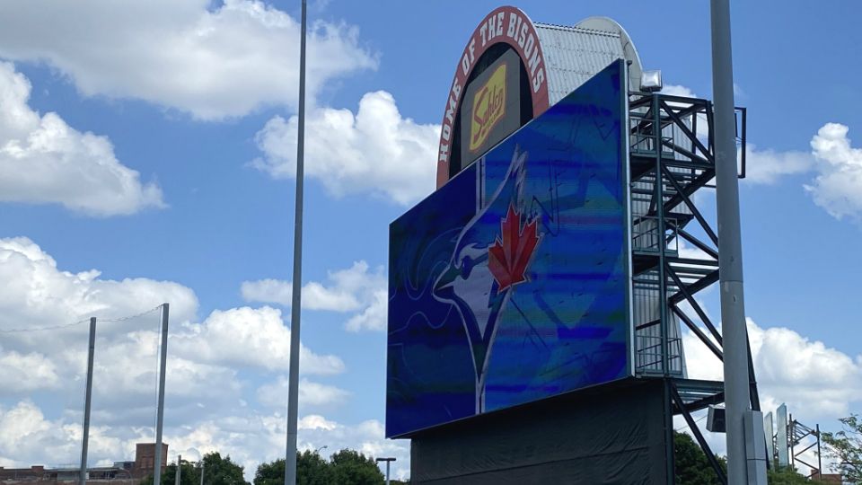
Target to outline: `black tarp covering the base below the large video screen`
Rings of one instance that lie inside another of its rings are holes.
[[[411,483],[667,483],[661,380],[606,385],[412,437]]]

